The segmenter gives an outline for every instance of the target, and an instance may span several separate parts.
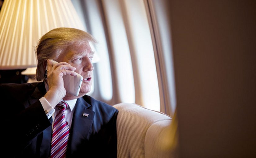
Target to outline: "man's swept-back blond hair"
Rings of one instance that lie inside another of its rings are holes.
[[[96,40],[87,32],[74,28],[56,28],[44,34],[36,46],[37,69],[36,79],[42,81],[44,78],[47,59],[57,59],[70,45],[81,45],[84,42],[96,43]]]

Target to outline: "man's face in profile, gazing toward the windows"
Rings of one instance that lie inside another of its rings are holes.
[[[83,96],[91,90],[93,55],[94,52],[92,51],[89,43],[84,42],[82,45],[68,46],[65,52],[63,52],[57,59],[58,62],[65,61],[71,66],[74,66],[76,68],[75,72],[82,75],[83,82],[80,88],[79,96]]]

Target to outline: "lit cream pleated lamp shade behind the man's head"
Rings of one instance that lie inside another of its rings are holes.
[[[36,67],[39,38],[58,27],[85,31],[70,0],[5,0],[0,12],[0,69]]]

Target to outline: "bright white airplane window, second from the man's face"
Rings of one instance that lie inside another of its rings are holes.
[[[118,0],[102,1],[106,11],[106,22],[114,55],[113,66],[116,70],[120,102],[135,102],[132,61],[128,39]]]

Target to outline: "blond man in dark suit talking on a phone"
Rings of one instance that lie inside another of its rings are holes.
[[[0,84],[7,157],[53,157],[52,128],[61,101],[68,105],[64,120],[69,129],[67,147],[56,157],[116,157],[118,110],[86,95],[92,85],[93,42],[90,34],[78,29],[53,29],[36,48],[36,77],[43,82]],[[78,96],[68,93],[63,81],[63,76],[76,76],[75,72],[83,77]]]

